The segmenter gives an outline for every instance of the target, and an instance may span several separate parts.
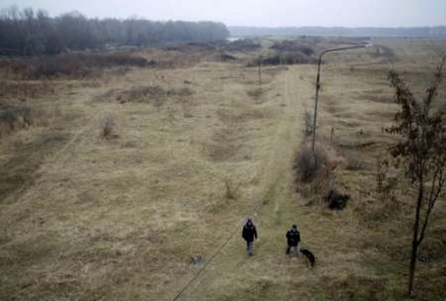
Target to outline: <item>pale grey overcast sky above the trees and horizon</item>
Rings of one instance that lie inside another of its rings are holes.
[[[43,8],[54,16],[212,20],[229,26],[446,25],[446,0],[0,0],[0,8]]]

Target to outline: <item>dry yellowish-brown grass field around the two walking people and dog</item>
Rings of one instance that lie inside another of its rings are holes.
[[[387,72],[422,95],[446,41],[372,42],[378,55],[325,58],[318,144],[333,164],[319,186],[293,169],[316,65],[263,66],[260,88],[246,61],[266,49],[139,50],[159,65],[83,78],[0,72],[0,109],[32,113],[0,131],[0,300],[173,300],[197,272],[178,300],[406,300],[413,192],[376,191],[397,111]],[[344,210],[326,208],[329,186],[351,196]],[[445,213],[442,199],[415,300],[446,298]],[[284,254],[293,223],[314,268]]]

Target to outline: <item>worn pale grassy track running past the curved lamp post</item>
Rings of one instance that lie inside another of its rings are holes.
[[[284,298],[292,292],[288,279],[293,266],[304,268],[301,261],[284,256],[284,233],[295,220],[298,200],[293,193],[292,160],[301,139],[302,98],[308,97],[309,86],[299,78],[299,69],[290,68],[283,75],[284,115],[277,124],[271,141],[259,191],[254,194],[252,215],[259,229],[255,255],[249,258],[243,251],[238,233],[231,238],[213,263],[201,272],[180,300],[270,300],[278,294]],[[240,215],[240,224],[245,215]],[[282,298],[281,298],[282,299]]]

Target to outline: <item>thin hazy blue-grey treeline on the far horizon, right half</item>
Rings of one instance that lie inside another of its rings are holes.
[[[446,37],[446,26],[434,27],[246,27],[230,26],[231,37],[252,36],[381,36]]]

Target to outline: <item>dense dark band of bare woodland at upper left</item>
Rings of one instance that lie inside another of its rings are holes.
[[[107,45],[151,46],[227,37],[226,26],[216,22],[99,20],[77,12],[49,17],[43,10],[16,7],[3,9],[0,14],[0,54],[56,54]]]

